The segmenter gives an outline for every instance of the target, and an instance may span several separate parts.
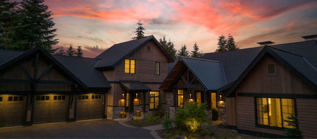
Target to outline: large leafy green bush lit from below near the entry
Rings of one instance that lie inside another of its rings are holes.
[[[204,122],[207,122],[208,114],[206,103],[187,102],[184,107],[180,107],[175,112],[174,124],[179,129],[187,127],[191,132]]]

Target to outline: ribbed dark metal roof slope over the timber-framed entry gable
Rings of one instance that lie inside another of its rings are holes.
[[[183,56],[180,59],[207,90],[217,90],[227,84],[221,62]]]

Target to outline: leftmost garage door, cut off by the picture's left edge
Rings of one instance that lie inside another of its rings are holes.
[[[26,96],[0,95],[0,127],[23,125]]]

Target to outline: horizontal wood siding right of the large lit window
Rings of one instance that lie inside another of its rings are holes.
[[[299,129],[304,138],[317,137],[317,99],[296,99]]]

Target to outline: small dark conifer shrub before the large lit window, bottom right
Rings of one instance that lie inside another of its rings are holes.
[[[299,130],[297,127],[299,125],[297,116],[291,115],[288,116],[287,119],[289,120],[283,120],[284,122],[288,123],[288,126],[293,126],[294,128],[285,129],[286,138],[303,138],[303,135],[301,134],[301,130]]]

